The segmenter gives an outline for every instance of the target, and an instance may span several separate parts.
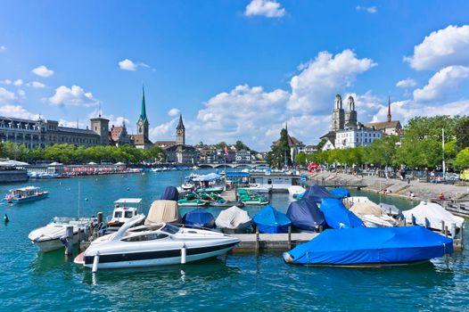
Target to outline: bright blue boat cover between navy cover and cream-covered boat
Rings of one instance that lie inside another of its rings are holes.
[[[323,211],[327,226],[332,228],[349,228],[363,226],[363,222],[343,203],[333,198],[325,198],[319,209]]]

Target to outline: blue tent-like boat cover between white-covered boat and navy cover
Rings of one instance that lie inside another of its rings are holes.
[[[260,233],[287,233],[288,226],[292,223],[283,212],[278,211],[270,205],[264,206],[252,218]]]

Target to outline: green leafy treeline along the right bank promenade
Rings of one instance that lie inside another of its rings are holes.
[[[442,129],[445,131],[445,149],[442,148]],[[296,156],[296,163],[377,167],[400,166],[411,168],[440,167],[443,154],[447,168],[469,168],[469,118],[416,117],[404,127],[404,135],[391,135],[374,141],[370,146],[343,150],[329,150]]]

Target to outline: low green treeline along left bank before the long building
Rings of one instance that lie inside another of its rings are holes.
[[[0,157],[34,162],[37,160],[58,161],[64,164],[78,164],[101,160],[124,163],[155,162],[165,160],[165,152],[158,146],[151,149],[137,149],[130,145],[116,146],[75,146],[72,144],[53,144],[45,148],[28,149],[25,145],[5,142],[0,144]]]

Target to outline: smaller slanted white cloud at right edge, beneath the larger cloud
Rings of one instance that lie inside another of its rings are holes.
[[[438,71],[428,80],[428,84],[414,91],[416,102],[440,100],[457,89],[461,80],[469,78],[469,67],[448,66]]]

